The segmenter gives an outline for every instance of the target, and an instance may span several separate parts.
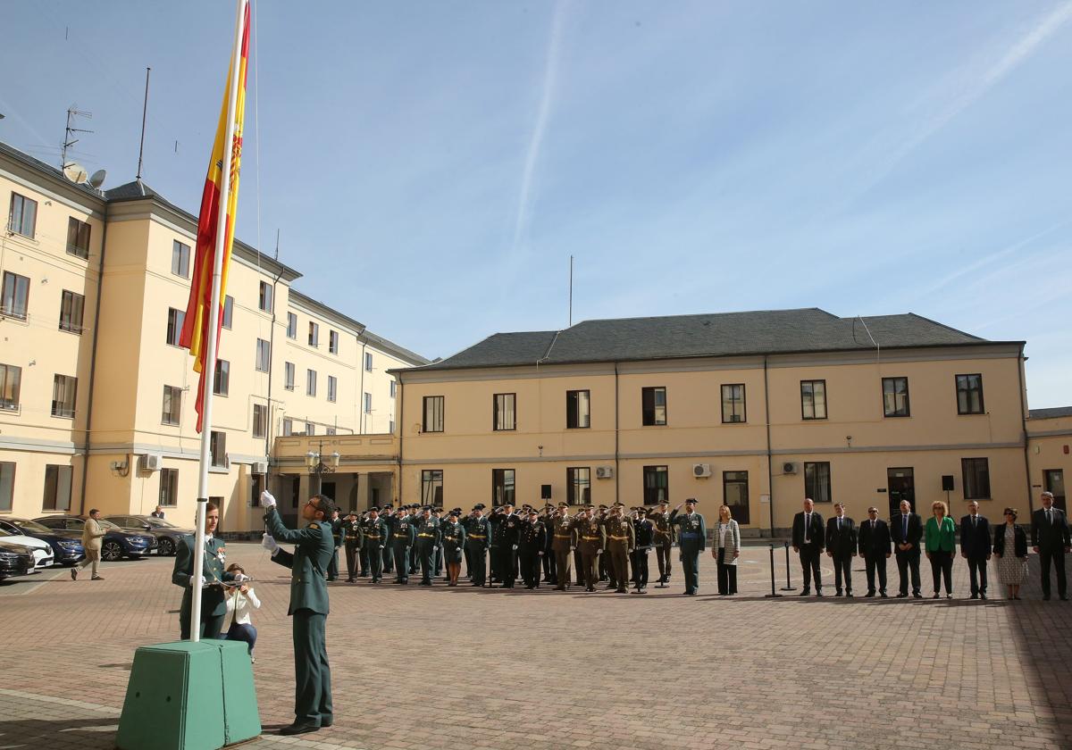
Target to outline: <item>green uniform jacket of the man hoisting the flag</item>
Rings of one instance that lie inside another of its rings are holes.
[[[328,584],[324,580],[334,554],[331,522],[314,521],[304,528],[283,525],[274,508],[265,513],[265,525],[276,541],[294,544],[294,554],[280,550],[272,560],[291,569],[291,606],[286,614],[309,610],[328,614]]]

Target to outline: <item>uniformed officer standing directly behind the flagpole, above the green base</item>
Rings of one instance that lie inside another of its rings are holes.
[[[223,620],[227,614],[227,601],[224,588],[220,582],[233,581],[235,575],[224,570],[227,558],[227,548],[222,539],[213,534],[220,523],[220,510],[214,502],[205,506],[205,560],[202,564],[204,572],[202,581],[195,582],[194,575],[194,535],[179,540],[175,551],[175,566],[172,569],[172,583],[182,586],[182,603],[179,605],[179,638],[190,640],[190,617],[193,612],[193,591],[200,591],[202,611],[199,631],[202,638],[220,638]],[[243,575],[242,579],[245,576]],[[208,585],[203,585],[208,584]]]

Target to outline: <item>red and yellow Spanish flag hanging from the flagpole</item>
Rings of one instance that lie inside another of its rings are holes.
[[[212,314],[212,271],[215,266],[217,227],[220,220],[220,194],[223,188],[224,141],[227,137],[227,100],[230,93],[232,76],[235,75],[236,56],[232,55],[230,70],[227,73],[227,87],[223,92],[223,108],[220,111],[220,123],[215,130],[215,142],[212,146],[212,159],[208,165],[208,176],[205,178],[205,191],[202,194],[200,215],[197,220],[197,251],[194,256],[194,273],[190,283],[190,301],[187,303],[187,315],[182,322],[182,333],[179,344],[190,349],[194,358],[194,371],[200,373],[197,382],[197,432],[202,431],[202,408],[205,403],[205,364],[208,356],[209,326],[217,329],[217,350],[219,355],[220,327],[223,322],[223,301],[227,288],[227,267],[230,265],[230,249],[235,241],[235,215],[238,206],[238,172],[242,156],[242,120],[245,115],[245,68],[250,50],[250,5],[244,3],[242,12],[242,32],[238,65],[238,98],[234,111],[234,140],[228,144],[226,155],[230,159],[230,180],[225,207],[227,223],[223,242],[223,273],[220,279],[220,306]]]

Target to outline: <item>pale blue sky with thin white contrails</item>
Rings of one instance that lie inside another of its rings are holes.
[[[195,212],[224,0],[4,9],[0,140]],[[255,0],[238,236],[426,357],[821,308],[1027,341],[1072,405],[1072,3]],[[12,75],[21,72],[20,75]],[[881,342],[879,342],[881,344]]]

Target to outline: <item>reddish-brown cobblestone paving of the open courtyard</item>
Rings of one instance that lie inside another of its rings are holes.
[[[766,599],[766,548],[745,550],[729,599],[710,556],[697,597],[681,595],[680,567],[646,596],[337,583],[336,724],[282,738],[270,732],[293,719],[287,571],[259,546],[228,546],[264,601],[266,734],[244,748],[1072,747],[1072,604],[1040,600],[1033,557],[1017,602],[998,586],[967,600],[962,560],[952,601]],[[178,634],[170,568],[0,584],[0,748],[113,747],[135,648]],[[833,594],[829,562],[824,575]],[[927,595],[926,560],[923,579]]]

